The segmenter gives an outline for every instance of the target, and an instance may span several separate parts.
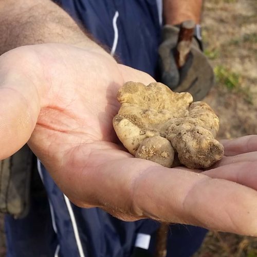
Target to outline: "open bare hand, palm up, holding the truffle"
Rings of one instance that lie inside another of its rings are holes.
[[[3,54],[0,80],[0,159],[29,140],[78,206],[98,206],[126,221],[149,217],[257,235],[257,136],[243,150],[247,138],[225,142],[226,155],[240,155],[212,171],[168,169],[133,158],[113,130],[118,88],[154,81],[143,72],[96,51],[47,44]]]

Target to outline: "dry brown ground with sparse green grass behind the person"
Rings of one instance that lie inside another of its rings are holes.
[[[216,75],[204,101],[221,121],[218,137],[257,134],[257,2],[206,1],[202,24],[205,53]],[[0,215],[0,257],[4,243]],[[194,257],[231,256],[257,257],[257,238],[210,231]]]

